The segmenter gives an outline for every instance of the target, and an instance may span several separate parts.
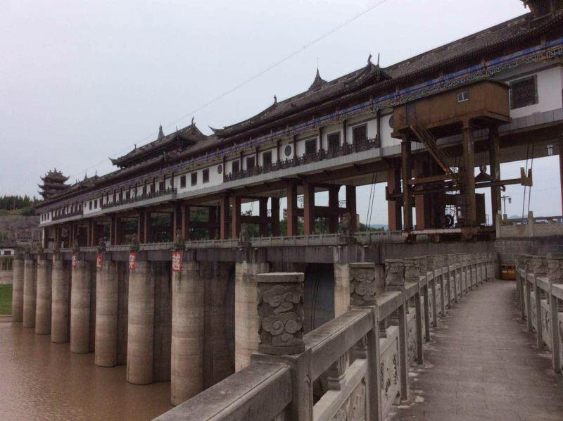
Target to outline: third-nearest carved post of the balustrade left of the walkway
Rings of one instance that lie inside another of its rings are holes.
[[[405,262],[403,260],[385,260],[385,288],[387,291],[399,291],[403,296],[403,305],[396,310],[393,323],[399,327],[399,365],[400,365],[400,398],[408,399],[408,329],[407,300],[405,294]]]

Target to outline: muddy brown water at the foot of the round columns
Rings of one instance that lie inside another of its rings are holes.
[[[20,323],[0,323],[1,420],[150,420],[170,406],[170,383],[125,381],[125,365],[94,365]]]

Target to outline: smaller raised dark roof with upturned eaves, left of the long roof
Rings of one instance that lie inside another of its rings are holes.
[[[110,161],[113,165],[126,168],[140,161],[153,158],[156,154],[171,153],[177,149],[186,149],[186,147],[206,138],[207,136],[198,129],[193,119],[191,120],[191,125],[167,135],[164,134],[163,127],[160,126],[156,140],[139,148],[135,147],[135,149],[120,158],[110,158]]]

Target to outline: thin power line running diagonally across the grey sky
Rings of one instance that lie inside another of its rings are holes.
[[[342,27],[348,25],[349,23],[352,23],[354,20],[357,20],[358,18],[361,18],[363,15],[369,13],[370,11],[374,10],[374,8],[377,8],[379,6],[381,6],[382,4],[386,3],[389,0],[380,0],[379,2],[377,2],[376,4],[369,6],[368,8],[366,8],[364,11],[361,11],[360,13],[354,15],[352,18],[345,20],[343,23],[341,23],[340,25],[332,28],[331,30],[329,30],[328,32],[325,32],[324,34],[322,34],[320,37],[317,37],[315,39],[313,39],[311,42],[309,42],[308,44],[304,44],[301,48],[296,49],[295,51],[293,51],[292,53],[288,54],[287,56],[285,56],[284,58],[279,59],[279,61],[276,61],[274,63],[272,63],[271,65],[269,65],[267,68],[265,68],[264,70],[261,70],[260,72],[256,73],[255,75],[249,77],[246,80],[243,80],[243,82],[237,84],[236,86],[232,87],[231,89],[227,90],[226,92],[223,92],[222,94],[220,94],[219,96],[215,96],[215,98],[211,99],[208,102],[203,103],[201,106],[198,106],[197,108],[195,108],[193,111],[190,111],[189,113],[186,113],[185,115],[182,115],[181,118],[178,118],[177,120],[168,123],[167,125],[165,125],[163,128],[167,129],[172,127],[173,125],[176,125],[177,123],[179,123],[180,121],[189,118],[191,116],[193,116],[195,113],[197,113],[198,111],[203,110],[203,108],[207,108],[208,106],[210,106],[211,104],[219,101],[220,99],[223,99],[225,96],[232,94],[232,92],[236,91],[237,89],[240,89],[241,87],[245,86],[246,84],[252,82],[253,80],[257,79],[258,77],[264,75],[265,73],[269,72],[270,70],[277,68],[279,65],[281,65],[282,63],[285,63],[286,61],[288,61],[290,58],[293,58],[294,56],[297,56],[298,54],[300,54],[301,52],[305,51],[306,49],[310,48],[311,46],[317,44],[317,42],[320,42],[322,39],[328,37],[331,34],[334,34],[334,32],[340,30]],[[144,137],[143,139],[139,139],[137,141],[137,143],[141,144],[141,142],[145,142],[146,140],[150,139],[152,136],[152,134],[149,134],[148,136]],[[112,155],[118,154],[118,153],[123,153],[126,151],[129,151],[131,149],[131,146],[127,146],[127,148],[121,149],[120,151],[115,151],[112,153]],[[94,168],[96,168],[98,165],[101,165],[103,163],[106,162],[106,159],[103,159],[103,161],[100,161],[99,163],[96,163],[94,165],[92,165],[91,167],[87,168],[86,171],[88,170],[92,170]],[[79,172],[75,175],[71,175],[69,178],[73,178],[73,177],[77,177],[78,175],[81,175],[82,172]]]

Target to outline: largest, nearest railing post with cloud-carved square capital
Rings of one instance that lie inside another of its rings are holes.
[[[311,350],[303,341],[303,273],[260,273],[258,283],[258,352],[256,363],[281,362],[291,367],[289,420],[312,420]]]

